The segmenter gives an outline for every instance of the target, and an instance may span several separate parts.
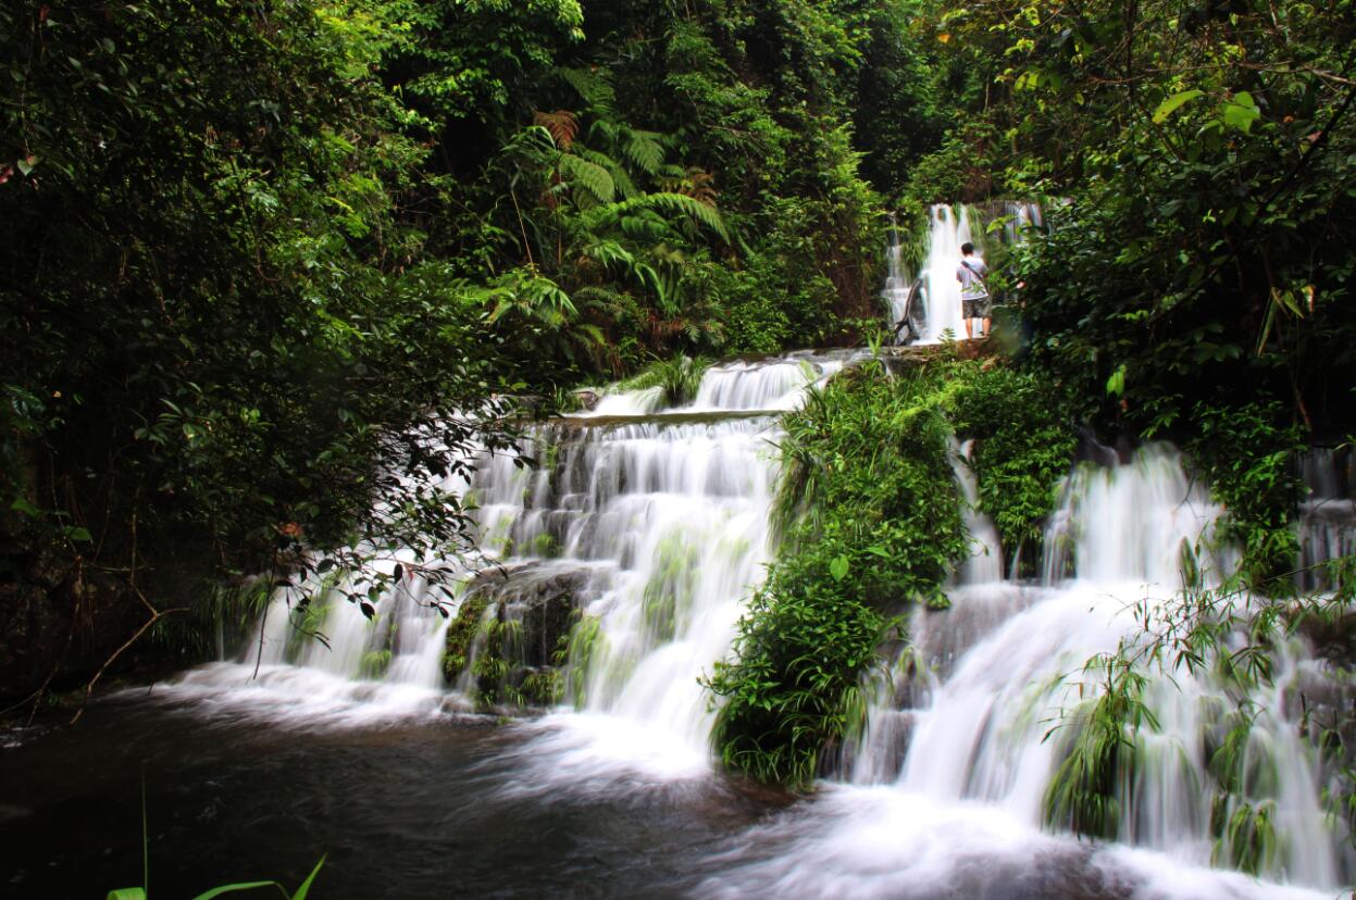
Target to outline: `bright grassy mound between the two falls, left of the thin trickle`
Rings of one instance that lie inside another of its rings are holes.
[[[951,363],[891,377],[850,369],[782,420],[776,562],[705,680],[732,770],[803,786],[861,721],[861,678],[898,614],[945,606],[968,539],[942,417]]]

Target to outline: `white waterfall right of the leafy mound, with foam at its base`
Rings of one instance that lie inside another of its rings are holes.
[[[1130,846],[1043,828],[1056,767],[1102,690],[1104,671],[1085,664],[1134,647],[1144,610],[1169,609],[1182,546],[1208,537],[1218,515],[1169,447],[1077,469],[1045,535],[1047,583],[1021,588],[965,567],[952,610],[914,614],[913,652],[884,691],[894,703],[877,695],[868,735],[845,755],[843,775],[858,786],[753,832],[704,893],[1332,896],[1353,861],[1322,808],[1323,775],[1299,728],[1295,690],[1313,674],[1299,642],[1281,649],[1273,684],[1248,698],[1256,720],[1241,797],[1224,801],[1210,771],[1235,698],[1212,675],[1176,670],[1143,691],[1155,721],[1138,736],[1134,781],[1117,788]],[[1205,568],[1231,564],[1203,556]],[[1226,820],[1245,802],[1267,811],[1277,835],[1261,866],[1267,882],[1210,869],[1230,854],[1211,830],[1216,802]]]

